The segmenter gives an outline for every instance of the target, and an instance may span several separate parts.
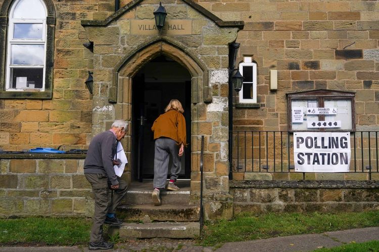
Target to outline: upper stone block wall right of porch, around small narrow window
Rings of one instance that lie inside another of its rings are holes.
[[[374,1],[200,1],[223,20],[242,20],[237,61],[258,65],[260,108],[234,109],[234,130],[288,130],[286,93],[356,92],[356,130],[379,125],[379,3]],[[278,71],[277,91],[269,70]],[[234,100],[233,100],[234,102]]]

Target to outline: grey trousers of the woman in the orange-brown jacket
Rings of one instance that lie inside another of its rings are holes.
[[[170,154],[172,156],[171,176],[176,180],[181,170],[180,157],[178,156],[179,146],[171,138],[158,138],[155,140],[154,152],[154,188],[164,188],[166,185],[168,162]]]

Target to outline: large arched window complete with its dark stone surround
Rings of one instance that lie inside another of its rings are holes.
[[[5,0],[0,98],[52,98],[55,17],[51,0]]]

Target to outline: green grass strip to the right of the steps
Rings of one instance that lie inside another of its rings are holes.
[[[231,221],[206,222],[203,237],[198,243],[203,246],[214,246],[224,242],[370,226],[379,226],[379,211],[339,214],[269,213],[256,216],[243,214]]]

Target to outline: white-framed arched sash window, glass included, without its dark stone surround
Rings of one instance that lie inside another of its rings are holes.
[[[16,0],[10,9],[7,91],[44,91],[46,8],[42,0]]]

